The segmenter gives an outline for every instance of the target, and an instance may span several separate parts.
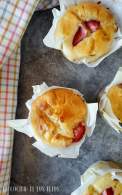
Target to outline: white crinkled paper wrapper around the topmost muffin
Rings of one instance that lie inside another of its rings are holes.
[[[99,0],[98,0],[99,1]],[[54,36],[57,23],[61,16],[64,14],[64,12],[67,10],[67,8],[70,5],[78,4],[80,2],[98,2],[97,0],[59,0],[60,3],[60,11],[58,9],[53,9],[53,24],[51,29],[49,30],[48,34],[44,38],[43,42],[47,47],[51,47],[54,49],[61,50],[61,44],[63,42],[62,39],[56,38]],[[99,58],[96,61],[90,62],[86,59],[82,59],[78,62],[78,64],[84,63],[89,67],[96,67],[99,65],[100,62],[102,62],[103,59],[105,59],[107,56],[118,50],[122,46],[122,1],[121,0],[101,0],[101,3],[105,5],[105,7],[110,8],[113,15],[116,18],[117,25],[118,25],[118,31],[115,35],[115,38],[113,40],[113,44],[111,47],[111,50]],[[68,27],[67,27],[68,28]]]

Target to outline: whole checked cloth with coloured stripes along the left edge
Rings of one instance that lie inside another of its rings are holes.
[[[20,41],[38,0],[0,0],[0,195],[9,192],[13,131],[20,66]]]

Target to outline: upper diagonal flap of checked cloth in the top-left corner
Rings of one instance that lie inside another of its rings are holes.
[[[0,63],[7,62],[27,27],[37,0],[0,1]]]

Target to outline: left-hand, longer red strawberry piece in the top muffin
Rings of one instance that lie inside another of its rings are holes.
[[[80,26],[73,38],[73,46],[76,46],[80,41],[82,41],[87,36],[87,28],[85,26]]]

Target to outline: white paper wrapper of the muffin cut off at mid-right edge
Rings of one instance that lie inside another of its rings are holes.
[[[117,71],[113,81],[101,92],[99,111],[109,125],[118,133],[122,132],[122,125],[119,119],[114,115],[109,98],[107,97],[108,90],[117,84],[122,83],[122,67]]]

